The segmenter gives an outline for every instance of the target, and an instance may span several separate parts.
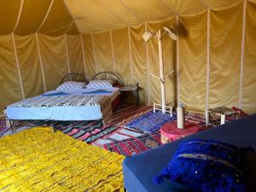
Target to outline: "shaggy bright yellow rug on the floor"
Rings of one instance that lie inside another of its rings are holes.
[[[124,156],[52,128],[0,139],[0,191],[122,191]]]

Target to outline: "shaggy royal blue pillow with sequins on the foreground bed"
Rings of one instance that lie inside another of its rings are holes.
[[[249,148],[228,143],[193,139],[181,143],[169,164],[154,177],[205,192],[244,192],[245,159]]]

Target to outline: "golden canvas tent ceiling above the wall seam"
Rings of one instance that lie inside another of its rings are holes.
[[[242,0],[2,0],[0,35],[104,32],[174,15],[224,9]],[[255,2],[255,0],[251,0]]]

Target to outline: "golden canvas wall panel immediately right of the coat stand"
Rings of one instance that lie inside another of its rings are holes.
[[[207,94],[207,12],[180,18],[180,102],[186,108],[206,108]]]

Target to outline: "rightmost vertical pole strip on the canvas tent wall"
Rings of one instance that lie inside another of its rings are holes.
[[[243,65],[244,65],[244,44],[247,21],[247,0],[243,0],[242,9],[242,31],[241,31],[241,61],[240,61],[240,84],[239,84],[239,108],[242,108],[242,88],[243,88]]]

